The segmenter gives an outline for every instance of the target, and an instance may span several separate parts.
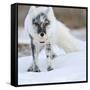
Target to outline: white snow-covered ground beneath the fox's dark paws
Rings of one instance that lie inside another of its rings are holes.
[[[18,58],[18,84],[41,84],[55,82],[73,82],[86,80],[86,45],[80,42],[82,50],[65,54],[63,49],[53,46],[57,57],[52,60],[54,70],[47,71],[45,50],[39,54],[39,67],[41,72],[27,72],[32,63],[32,56]]]

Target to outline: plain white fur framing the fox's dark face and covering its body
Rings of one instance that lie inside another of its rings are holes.
[[[69,33],[69,28],[55,18],[51,7],[36,8],[32,6],[25,18],[25,30],[34,37],[36,43],[38,43],[40,38],[35,34],[35,30],[32,26],[32,18],[37,16],[40,12],[46,13],[50,20],[50,25],[47,27],[47,39],[52,44],[54,43],[62,47],[66,53],[79,51],[77,39]]]

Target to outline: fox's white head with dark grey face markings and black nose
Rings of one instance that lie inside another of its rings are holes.
[[[28,28],[32,37],[38,38],[41,42],[47,39],[47,32],[55,20],[51,7],[31,6],[28,12]]]

